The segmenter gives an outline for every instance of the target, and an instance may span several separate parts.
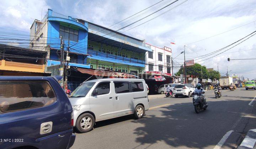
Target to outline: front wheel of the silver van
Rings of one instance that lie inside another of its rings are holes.
[[[90,113],[82,114],[76,120],[76,130],[85,133],[92,130],[94,127],[95,119]]]

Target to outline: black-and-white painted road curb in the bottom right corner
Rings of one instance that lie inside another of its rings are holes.
[[[256,129],[251,129],[247,132],[244,140],[237,149],[253,149],[256,143]]]

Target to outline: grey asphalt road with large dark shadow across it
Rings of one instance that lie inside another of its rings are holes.
[[[223,90],[218,99],[213,90],[205,95],[209,106],[199,114],[192,97],[150,99],[143,118],[97,122],[92,131],[76,133],[72,148],[236,148],[256,127],[256,90]]]

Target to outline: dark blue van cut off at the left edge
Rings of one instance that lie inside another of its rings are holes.
[[[65,149],[73,110],[55,77],[0,76],[0,148]]]

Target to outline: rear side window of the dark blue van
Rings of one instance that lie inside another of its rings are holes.
[[[0,81],[0,113],[47,106],[56,100],[47,81]]]

